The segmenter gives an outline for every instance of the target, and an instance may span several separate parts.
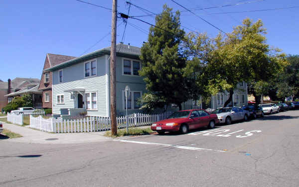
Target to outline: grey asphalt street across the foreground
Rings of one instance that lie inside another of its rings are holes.
[[[299,110],[185,135],[0,140],[0,187],[298,187]]]

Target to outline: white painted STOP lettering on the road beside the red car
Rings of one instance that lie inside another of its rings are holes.
[[[244,129],[232,132],[232,133],[228,133],[228,134],[222,134],[222,133],[226,133],[229,132],[230,129],[214,129],[214,130],[210,130],[210,131],[200,131],[200,132],[194,132],[194,133],[189,133],[188,135],[203,135],[203,136],[217,136],[217,137],[230,137],[232,136],[232,134],[244,131]],[[257,132],[260,133],[262,132],[261,130],[253,130],[253,131],[248,131],[245,133],[245,136],[241,136],[241,135],[237,135],[236,138],[246,138],[249,136],[253,135],[253,132]]]

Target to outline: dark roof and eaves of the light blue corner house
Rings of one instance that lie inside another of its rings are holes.
[[[52,66],[50,68],[45,69],[44,71],[55,71],[58,69],[62,69],[71,65],[75,65],[81,62],[85,62],[87,60],[91,60],[103,55],[110,55],[110,49],[111,47],[106,47],[106,48],[102,48],[99,50],[96,50],[94,52],[70,59],[68,61],[62,62],[60,64],[57,64],[55,66]],[[127,58],[135,58],[135,59],[139,59],[139,56],[141,55],[141,51],[140,51],[140,47],[135,47],[132,45],[126,45],[123,43],[118,43],[116,45],[116,55],[117,56],[122,56],[122,57],[127,57]]]

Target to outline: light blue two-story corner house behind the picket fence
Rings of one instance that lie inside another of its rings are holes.
[[[117,115],[125,114],[124,90],[131,88],[128,112],[139,111],[137,100],[146,92],[139,76],[139,47],[117,44]],[[52,112],[110,116],[110,47],[68,60],[44,71],[52,71]]]

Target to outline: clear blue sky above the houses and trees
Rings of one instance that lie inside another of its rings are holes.
[[[112,0],[85,0],[112,7]],[[249,17],[262,19],[267,28],[268,43],[287,54],[299,54],[299,1],[298,0],[175,0],[194,13],[231,32],[233,26]],[[173,10],[183,10],[171,0],[131,0],[135,5],[153,13],[162,11],[167,4]],[[238,5],[237,5],[238,4]],[[222,6],[230,5],[230,6]],[[294,7],[295,8],[288,8]],[[262,9],[286,8],[267,11]],[[118,11],[128,13],[126,0],[118,0]],[[243,11],[243,12],[241,12]],[[250,11],[250,12],[244,12]],[[227,13],[234,12],[234,13]],[[236,13],[241,12],[241,13]],[[216,13],[216,14],[214,14]],[[131,6],[129,15],[150,14]],[[139,17],[154,24],[154,16]],[[119,19],[117,43],[122,40],[125,24]],[[218,30],[189,12],[181,12],[184,30],[207,32],[214,37]],[[185,28],[187,27],[187,28]],[[149,25],[129,19],[123,42],[142,46],[148,39]],[[41,77],[47,53],[80,56],[111,44],[111,11],[77,0],[1,0],[0,2],[0,79]]]

